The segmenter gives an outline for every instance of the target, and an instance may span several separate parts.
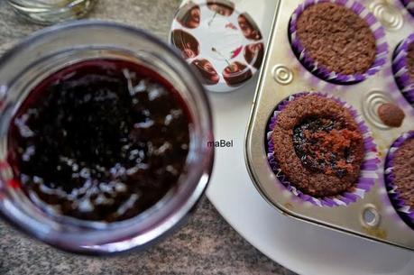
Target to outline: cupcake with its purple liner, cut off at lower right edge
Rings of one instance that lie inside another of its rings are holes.
[[[414,131],[392,143],[385,160],[385,184],[392,205],[414,228]]]

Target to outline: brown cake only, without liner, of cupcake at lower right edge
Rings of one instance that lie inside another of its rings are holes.
[[[414,139],[402,143],[395,152],[393,173],[400,198],[414,209]]]

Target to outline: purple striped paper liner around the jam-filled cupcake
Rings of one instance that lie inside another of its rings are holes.
[[[363,163],[361,164],[361,174],[360,178],[358,179],[358,182],[355,185],[355,188],[352,191],[347,191],[341,195],[335,196],[335,197],[312,197],[307,194],[304,194],[301,192],[298,188],[295,188],[293,184],[290,183],[290,181],[286,178],[286,176],[281,171],[281,168],[277,162],[277,160],[274,157],[274,151],[275,151],[275,145],[272,141],[271,135],[273,133],[273,129],[275,125],[277,124],[277,118],[278,115],[281,113],[281,111],[290,104],[290,102],[294,101],[295,99],[301,97],[301,96],[307,96],[310,95],[308,92],[303,92],[295,95],[291,95],[284,100],[281,101],[279,105],[276,106],[273,115],[271,116],[271,119],[269,121],[269,124],[267,126],[267,146],[266,146],[266,153],[267,153],[267,159],[271,166],[271,170],[276,175],[277,184],[281,184],[284,188],[288,189],[290,193],[292,193],[294,196],[299,197],[304,202],[309,202],[314,206],[348,206],[354,202],[356,202],[358,199],[363,198],[364,195],[370,191],[370,189],[375,184],[376,179],[378,179],[378,164],[380,163],[380,160],[378,158],[376,145],[373,142],[373,137],[369,131],[369,128],[364,124],[363,118],[361,115],[358,115],[354,107],[351,105],[341,101],[339,98],[318,93],[318,92],[312,92],[312,95],[317,96],[324,96],[331,98],[335,100],[340,105],[344,106],[346,109],[348,109],[351,114],[354,116],[355,122],[358,124],[358,128],[361,133],[363,133],[363,147],[365,151]]]

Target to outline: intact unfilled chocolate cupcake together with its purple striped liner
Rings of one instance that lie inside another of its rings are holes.
[[[306,1],[290,20],[290,43],[318,78],[352,84],[385,64],[385,32],[373,14],[353,0]]]

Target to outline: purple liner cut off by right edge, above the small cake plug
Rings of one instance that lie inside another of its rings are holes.
[[[414,33],[411,33],[404,41],[401,41],[400,45],[395,49],[392,60],[392,72],[398,87],[400,87],[402,96],[407,99],[410,105],[414,106],[414,78],[409,76],[407,59],[411,43],[414,43]]]

